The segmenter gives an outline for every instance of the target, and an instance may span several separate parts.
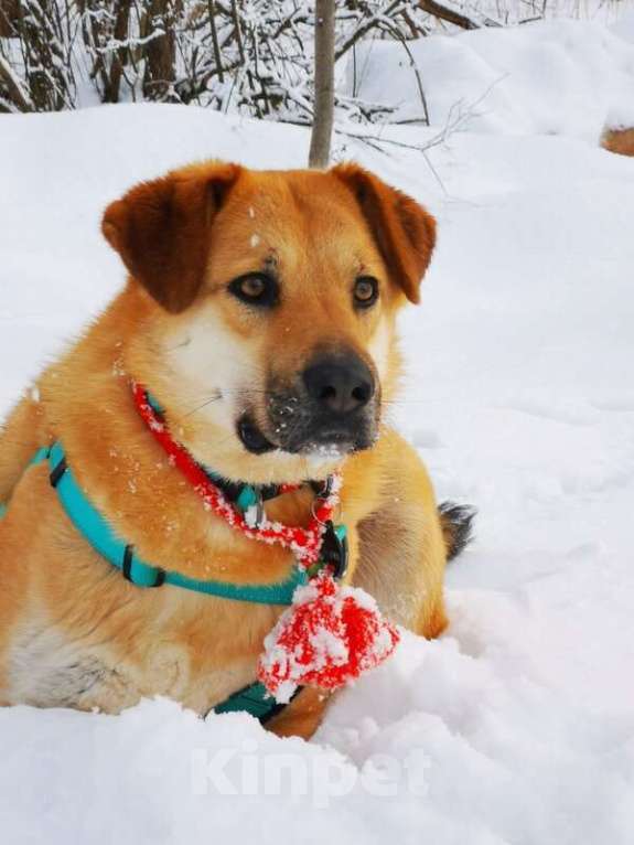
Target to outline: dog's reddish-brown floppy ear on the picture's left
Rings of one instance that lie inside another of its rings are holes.
[[[212,223],[240,171],[222,162],[193,165],[142,182],[106,208],[104,236],[166,311],[184,311],[198,293]]]

